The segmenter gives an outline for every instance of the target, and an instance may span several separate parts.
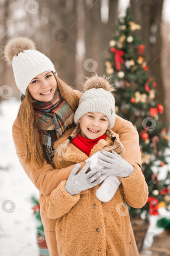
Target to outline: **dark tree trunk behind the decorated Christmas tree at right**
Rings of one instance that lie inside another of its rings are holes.
[[[149,74],[155,76],[158,86],[158,97],[162,105],[164,105],[164,85],[161,72],[161,54],[167,50],[162,49],[162,38],[160,30],[161,14],[163,0],[131,0],[131,12],[133,21],[142,26],[142,30],[136,31],[138,36],[143,39],[145,54],[147,57],[147,65],[149,66]],[[159,116],[161,121],[166,120],[165,111]]]

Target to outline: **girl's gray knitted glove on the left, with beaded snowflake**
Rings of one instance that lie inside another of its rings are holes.
[[[65,189],[71,195],[74,196],[75,194],[80,193],[83,190],[88,188],[93,188],[94,186],[98,185],[100,181],[101,172],[98,172],[98,168],[94,168],[90,172],[86,173],[90,166],[90,161],[85,163],[85,166],[82,170],[78,172],[81,165],[77,163],[76,166],[73,168],[70,176],[66,182]],[[100,169],[103,170],[103,169]],[[96,181],[95,181],[96,180]]]

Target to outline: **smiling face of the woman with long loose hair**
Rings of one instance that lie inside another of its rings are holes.
[[[39,102],[51,101],[57,89],[57,81],[51,71],[45,71],[28,84],[28,90],[33,99]]]

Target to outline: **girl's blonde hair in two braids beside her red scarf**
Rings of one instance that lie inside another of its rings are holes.
[[[78,123],[76,128],[74,129],[74,131],[72,132],[72,134],[70,135],[72,138],[75,138],[77,133],[80,131],[80,124]],[[111,128],[108,128],[106,130],[106,135],[109,138],[114,137],[114,133],[111,130]],[[57,158],[58,162],[61,162],[62,160],[64,160],[67,156],[65,154],[66,148],[69,145],[70,140],[66,139],[62,144],[60,144],[53,152],[54,152],[54,156]],[[112,150],[114,150],[117,154],[119,154],[121,157],[123,157],[124,153],[125,153],[125,148],[123,146],[123,144],[120,142],[120,140],[116,139],[113,144],[111,146],[106,146],[101,148],[99,146],[100,150],[106,150],[108,152],[111,152]]]

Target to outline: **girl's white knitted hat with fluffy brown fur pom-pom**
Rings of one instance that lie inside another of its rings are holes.
[[[115,124],[115,98],[112,91],[115,90],[108,79],[94,75],[85,82],[85,93],[82,94],[78,108],[74,114],[74,122],[88,112],[100,112],[109,119],[109,127]],[[89,89],[89,90],[88,90]]]

